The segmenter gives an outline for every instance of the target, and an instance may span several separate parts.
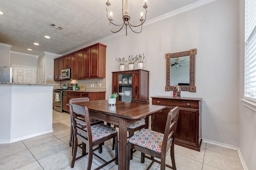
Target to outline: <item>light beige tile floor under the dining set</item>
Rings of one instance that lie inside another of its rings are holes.
[[[71,169],[71,152],[69,147],[70,115],[53,111],[53,133],[33,137],[11,144],[0,144],[0,170],[69,170]],[[114,157],[112,141],[103,145],[102,158],[110,160]],[[78,150],[81,153],[81,149]],[[78,153],[77,156],[81,154]],[[171,164],[170,155],[166,162]],[[86,169],[87,156],[75,162],[73,170]],[[242,170],[236,150],[226,149],[208,143],[202,143],[201,151],[195,151],[175,145],[175,160],[178,170]],[[92,169],[102,162],[94,157]],[[145,170],[150,160],[140,163],[140,152],[136,151],[130,161],[131,170]],[[117,170],[112,162],[104,170]],[[169,168],[166,168],[169,169]],[[160,170],[154,163],[150,170]]]

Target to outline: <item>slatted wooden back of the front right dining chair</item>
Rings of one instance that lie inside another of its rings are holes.
[[[168,149],[170,148],[170,146],[172,145],[172,143],[174,142],[176,128],[177,128],[177,122],[178,122],[178,116],[179,116],[179,107],[178,106],[174,107],[168,113],[166,127],[165,127],[165,131],[164,131],[162,152],[167,152]]]

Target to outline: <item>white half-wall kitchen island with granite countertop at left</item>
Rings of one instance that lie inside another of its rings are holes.
[[[53,131],[54,85],[0,82],[0,144]]]

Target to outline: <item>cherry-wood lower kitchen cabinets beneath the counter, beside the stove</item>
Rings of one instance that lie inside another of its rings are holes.
[[[89,98],[90,101],[92,100],[105,100],[106,99],[106,92],[74,92],[74,91],[64,91],[63,92],[63,106],[62,109],[69,113],[69,103],[70,99],[72,98]]]

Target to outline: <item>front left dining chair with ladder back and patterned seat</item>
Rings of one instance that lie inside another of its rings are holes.
[[[118,143],[117,143],[117,131],[113,127],[104,125],[104,124],[96,124],[91,125],[90,124],[90,116],[89,116],[89,110],[86,106],[79,106],[76,104],[71,104],[72,109],[72,123],[73,123],[73,133],[74,133],[74,152],[72,155],[72,163],[71,168],[74,167],[75,161],[82,158],[83,156],[88,154],[88,164],[87,164],[87,170],[91,169],[92,166],[92,156],[96,156],[100,158],[104,162],[104,164],[95,170],[99,170],[102,167],[110,164],[111,162],[115,161],[116,165],[118,164]],[[79,115],[83,115],[85,119],[80,119],[78,117]],[[82,127],[81,127],[82,124]],[[114,139],[116,142],[116,150],[115,150],[115,158],[113,158],[110,161],[106,161],[102,159],[100,156],[95,154],[93,151],[94,146],[99,145],[101,143],[104,143],[105,141],[108,141],[109,139]],[[76,158],[76,152],[78,148],[78,139],[82,141],[82,150],[86,150],[86,145],[88,146],[88,153],[85,153],[82,151],[82,156],[79,156]]]

